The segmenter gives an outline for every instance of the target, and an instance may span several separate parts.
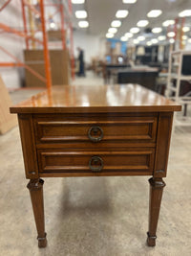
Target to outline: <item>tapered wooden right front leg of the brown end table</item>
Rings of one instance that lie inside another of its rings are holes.
[[[147,232],[148,246],[156,245],[156,232],[159,220],[159,208],[165,183],[162,178],[151,177],[150,183],[150,203],[149,203],[149,231]]]

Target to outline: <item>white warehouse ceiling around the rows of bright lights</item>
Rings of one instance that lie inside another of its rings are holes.
[[[191,0],[138,0],[136,4],[132,5],[123,4],[122,0],[86,0],[84,5],[73,5],[73,12],[77,10],[86,10],[88,12],[87,20],[90,27],[82,30],[101,36],[106,35],[111,22],[117,19],[115,17],[117,10],[121,9],[128,10],[129,14],[125,19],[120,19],[122,25],[118,28],[115,36],[117,38],[129,32],[132,27],[137,26],[138,20],[148,19],[147,13],[153,9],[161,10],[162,14],[158,18],[149,18],[147,27],[161,27],[162,22],[166,19],[174,19],[178,17],[179,12],[191,9]],[[79,29],[77,22],[78,19],[74,17],[75,29]]]

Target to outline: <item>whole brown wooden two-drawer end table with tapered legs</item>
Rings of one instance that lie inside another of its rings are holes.
[[[41,177],[150,175],[147,244],[155,246],[173,112],[180,105],[136,84],[53,86],[18,114],[39,247],[47,244]]]

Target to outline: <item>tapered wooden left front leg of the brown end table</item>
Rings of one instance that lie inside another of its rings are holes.
[[[39,247],[46,247],[47,245],[44,218],[43,183],[44,180],[42,179],[31,179],[27,186],[32,198],[32,209],[38,233],[37,240]]]

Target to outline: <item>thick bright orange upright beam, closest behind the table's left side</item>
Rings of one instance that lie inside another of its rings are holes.
[[[40,12],[41,12],[41,23],[42,23],[42,32],[43,32],[45,76],[46,76],[46,80],[47,80],[47,88],[51,89],[51,87],[52,87],[51,62],[50,62],[50,57],[49,57],[48,39],[47,39],[46,24],[45,24],[44,1],[43,0],[40,0]]]

